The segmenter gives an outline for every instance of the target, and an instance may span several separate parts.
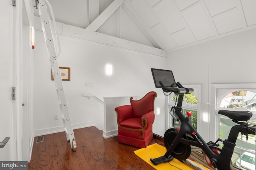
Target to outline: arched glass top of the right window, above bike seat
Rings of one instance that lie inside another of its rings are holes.
[[[256,111],[256,93],[248,90],[232,91],[222,98],[220,107]]]

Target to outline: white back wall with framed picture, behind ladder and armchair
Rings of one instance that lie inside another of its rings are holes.
[[[74,128],[94,124],[103,128],[103,103],[84,95],[96,96],[103,101],[103,97],[144,96],[149,91],[156,91],[160,93],[158,97],[164,98],[162,91],[154,87],[150,68],[164,68],[165,57],[67,36],[60,36],[60,45],[59,66],[70,67],[70,81],[64,81],[63,85]],[[54,115],[60,115],[60,109],[41,31],[36,31],[34,56],[35,135],[63,130],[62,121],[54,120]],[[112,76],[105,75],[107,63],[113,65]],[[85,87],[85,83],[93,83],[93,86]]]

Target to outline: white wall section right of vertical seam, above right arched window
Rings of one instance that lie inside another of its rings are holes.
[[[256,28],[213,40],[209,46],[210,83],[256,82]]]

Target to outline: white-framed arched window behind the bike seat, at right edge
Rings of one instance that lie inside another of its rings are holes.
[[[218,110],[251,111],[253,117],[248,124],[256,125],[256,85],[255,84],[215,84],[215,117],[218,123],[216,136],[227,139],[234,125],[231,119],[217,114]],[[232,156],[233,166],[242,169],[255,169],[255,135],[239,134]]]

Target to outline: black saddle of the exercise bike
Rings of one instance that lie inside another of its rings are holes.
[[[219,110],[220,115],[225,115],[235,121],[248,121],[252,117],[252,112],[250,111],[226,111]]]

